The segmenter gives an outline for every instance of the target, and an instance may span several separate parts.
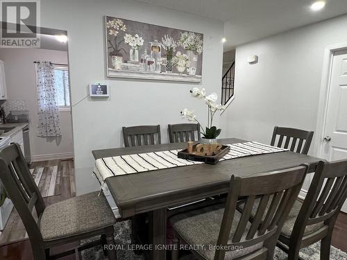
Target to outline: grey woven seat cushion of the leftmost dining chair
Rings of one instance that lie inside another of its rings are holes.
[[[105,196],[87,193],[49,205],[42,214],[40,229],[44,241],[83,234],[113,225],[116,220]]]

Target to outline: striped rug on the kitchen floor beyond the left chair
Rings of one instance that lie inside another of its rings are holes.
[[[58,165],[30,169],[42,197],[61,194],[62,168]]]

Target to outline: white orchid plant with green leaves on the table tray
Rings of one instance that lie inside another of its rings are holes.
[[[226,109],[224,105],[217,104],[217,94],[211,93],[210,95],[206,96],[205,89],[199,89],[198,87],[194,87],[190,93],[194,98],[198,98],[201,100],[205,100],[206,105],[208,105],[208,124],[205,127],[205,129],[201,126],[201,123],[196,119],[196,115],[194,114],[194,110],[188,110],[185,108],[180,114],[183,116],[183,118],[187,118],[190,122],[196,122],[200,125],[201,130],[203,132],[203,137],[205,139],[215,139],[221,134],[221,129],[217,129],[216,126],[213,125],[213,118],[214,114],[216,114],[217,111],[222,112]]]

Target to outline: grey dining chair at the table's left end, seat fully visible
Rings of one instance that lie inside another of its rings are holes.
[[[22,219],[35,260],[78,256],[82,250],[98,244],[115,245],[115,216],[105,196],[87,193],[46,206],[18,144],[0,150],[0,180]],[[50,248],[98,235],[100,241],[49,255]],[[117,259],[115,250],[108,250],[108,256]]]

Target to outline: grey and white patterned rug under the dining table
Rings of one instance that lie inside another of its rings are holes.
[[[127,245],[130,245],[130,230],[131,223],[130,220],[117,223],[115,225],[115,242],[116,245],[124,245],[124,248],[127,248]],[[300,257],[307,260],[319,260],[320,254],[320,243],[315,243],[308,248],[303,248],[300,251]],[[83,260],[107,260],[108,257],[105,257],[101,246],[91,248],[89,250],[84,250],[82,252]],[[276,248],[275,255],[273,259],[275,260],[285,260],[287,259],[287,254]],[[143,255],[137,255],[132,250],[117,250],[117,259],[118,260],[144,260]],[[184,257],[184,260],[193,260],[194,257],[187,256]],[[342,252],[341,250],[331,246],[330,249],[330,259],[334,260],[347,260],[347,253]],[[183,260],[183,259],[182,259]]]

